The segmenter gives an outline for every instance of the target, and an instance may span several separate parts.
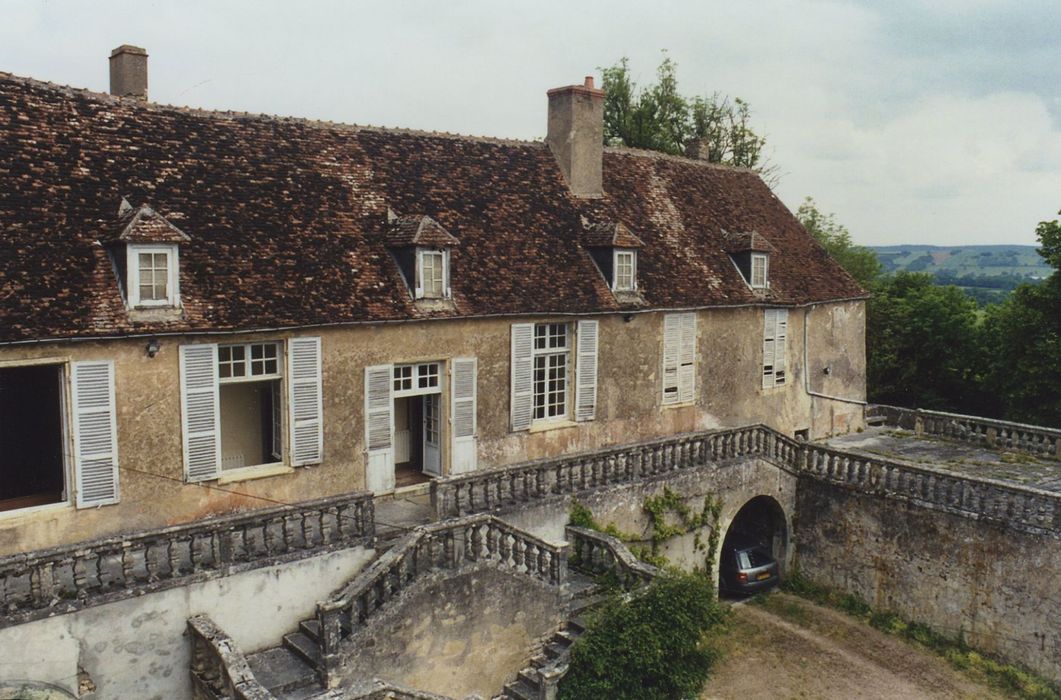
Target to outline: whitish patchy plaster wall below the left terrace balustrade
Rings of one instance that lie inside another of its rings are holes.
[[[81,668],[100,700],[190,698],[189,617],[210,615],[245,652],[275,646],[371,554],[331,553],[0,629],[0,684],[29,679],[76,695]]]

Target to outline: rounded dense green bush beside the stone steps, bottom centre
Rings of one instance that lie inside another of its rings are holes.
[[[710,633],[724,620],[711,581],[666,572],[629,600],[614,599],[571,652],[561,700],[695,698],[716,652]]]

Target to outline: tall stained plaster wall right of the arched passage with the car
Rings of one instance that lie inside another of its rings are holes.
[[[1058,538],[812,479],[797,512],[797,561],[812,580],[1061,681]]]

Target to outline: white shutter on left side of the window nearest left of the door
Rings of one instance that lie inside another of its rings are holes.
[[[221,400],[218,346],[180,346],[180,409],[185,478],[206,482],[221,473]]]

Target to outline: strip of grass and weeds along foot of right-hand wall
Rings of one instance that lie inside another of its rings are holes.
[[[903,619],[890,611],[874,611],[857,596],[842,594],[814,583],[799,570],[782,581],[782,588],[802,598],[840,610],[887,634],[903,637],[946,659],[955,668],[982,680],[1008,695],[1031,700],[1061,700],[1061,688],[1048,680],[1012,664],[986,657],[972,649],[964,637],[947,636],[922,623]],[[771,606],[772,607],[772,606]],[[784,610],[780,610],[786,614]]]

